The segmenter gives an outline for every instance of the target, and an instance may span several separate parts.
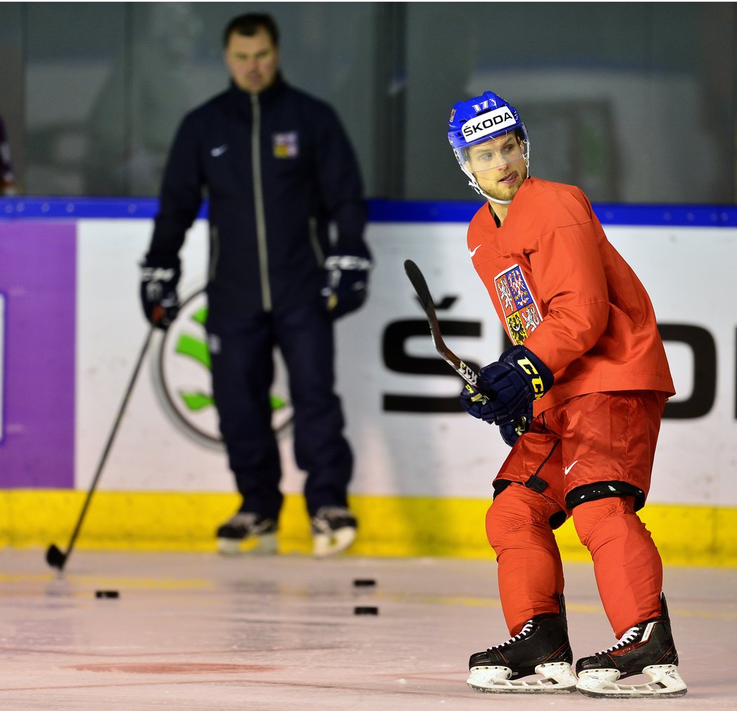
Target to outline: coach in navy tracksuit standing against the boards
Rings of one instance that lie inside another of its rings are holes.
[[[220,550],[275,542],[282,494],[271,427],[273,348],[287,366],[296,462],[315,555],[353,542],[352,452],[334,392],[333,321],[366,298],[371,257],[357,161],[335,111],[282,80],[268,15],[226,27],[231,86],[179,127],[142,265],[144,312],[167,328],[178,311],[178,252],[209,198],[208,343],[220,431],[243,501],[217,531]],[[335,223],[331,245],[328,225]]]

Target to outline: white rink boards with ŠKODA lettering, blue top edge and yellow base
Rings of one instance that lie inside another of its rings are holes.
[[[1,200],[0,209],[0,541],[46,544],[74,523],[146,335],[137,264],[155,203],[36,198]],[[502,332],[465,241],[474,209],[371,205],[371,295],[337,325],[357,552],[489,555],[483,514],[506,445],[458,410],[461,381],[436,356],[403,270],[413,259],[425,273],[451,349],[476,365],[494,360]],[[597,211],[651,295],[678,390],[643,517],[666,556],[737,563],[737,210]],[[82,545],[207,548],[237,505],[209,390],[206,246],[200,219],[182,255],[183,312],[147,354]],[[302,550],[304,475],[278,371],[282,547]],[[560,539],[579,555],[572,527]]]

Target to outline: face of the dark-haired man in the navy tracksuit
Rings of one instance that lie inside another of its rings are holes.
[[[226,46],[226,64],[238,88],[259,94],[276,79],[279,47],[265,29],[259,29],[251,37],[233,32]]]

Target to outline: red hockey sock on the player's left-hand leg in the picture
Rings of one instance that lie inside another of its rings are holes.
[[[559,506],[520,484],[497,495],[486,536],[497,554],[499,596],[509,634],[537,614],[559,612],[563,566],[549,519]]]

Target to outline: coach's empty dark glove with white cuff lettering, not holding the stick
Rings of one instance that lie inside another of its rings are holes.
[[[331,254],[325,260],[325,308],[340,318],[363,305],[368,295],[368,270],[374,266],[366,248]]]

